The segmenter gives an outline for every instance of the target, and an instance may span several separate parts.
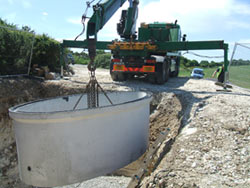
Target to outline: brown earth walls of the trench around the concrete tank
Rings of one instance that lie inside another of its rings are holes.
[[[111,86],[105,90],[116,91],[118,88],[119,86]],[[37,99],[83,92],[85,89],[81,84],[69,85],[59,81],[41,82],[31,79],[0,79],[0,182],[2,184],[0,187],[29,187],[24,185],[18,176],[16,144],[8,109]],[[166,140],[175,139],[180,132],[186,107],[186,99],[181,93],[153,92],[150,104],[150,146],[162,132],[167,131]],[[158,151],[158,161],[166,152],[164,149]],[[145,155],[112,175],[133,176],[141,168]]]

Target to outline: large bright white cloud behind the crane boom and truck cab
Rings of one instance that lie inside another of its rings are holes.
[[[121,10],[127,7],[126,2],[100,30],[99,40],[119,38],[116,25]],[[177,19],[183,33],[188,34],[188,40],[224,39],[232,28],[249,29],[250,22],[240,20],[241,15],[248,15],[249,12],[249,4],[236,0],[152,0],[148,3],[144,1],[139,4],[137,27],[142,22],[174,22]],[[69,18],[67,22],[81,24],[80,18]]]

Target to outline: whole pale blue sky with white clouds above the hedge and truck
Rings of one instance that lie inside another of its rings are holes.
[[[119,38],[116,24],[120,19],[121,10],[127,7],[128,2],[114,14],[98,33],[98,40]],[[0,17],[19,27],[27,25],[38,34],[46,33],[62,41],[74,39],[82,31],[81,16],[85,8],[86,0],[0,0]],[[88,16],[91,14],[92,8],[89,9]],[[188,41],[224,40],[229,43],[229,57],[235,42],[250,43],[250,0],[140,1],[138,26],[142,22],[175,20],[181,25],[182,33],[187,34]],[[84,39],[85,34],[80,40]],[[195,53],[207,56],[223,55],[221,50]],[[201,60],[194,55],[185,56]],[[250,60],[250,50],[238,47],[235,58]],[[223,59],[218,59],[221,60]]]

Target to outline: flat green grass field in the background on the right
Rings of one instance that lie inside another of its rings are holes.
[[[192,67],[189,68],[180,68],[180,77],[189,77],[192,72]],[[211,78],[213,72],[216,68],[203,68],[205,77]],[[231,66],[229,69],[229,81],[233,84],[250,89],[250,65],[244,66]]]

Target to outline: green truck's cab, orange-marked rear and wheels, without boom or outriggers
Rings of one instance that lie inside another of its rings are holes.
[[[163,84],[170,76],[178,76],[181,53],[161,50],[155,43],[178,42],[181,38],[180,25],[177,23],[142,23],[138,40],[109,45],[112,53],[111,78],[124,81],[134,76],[144,76],[151,83]]]

